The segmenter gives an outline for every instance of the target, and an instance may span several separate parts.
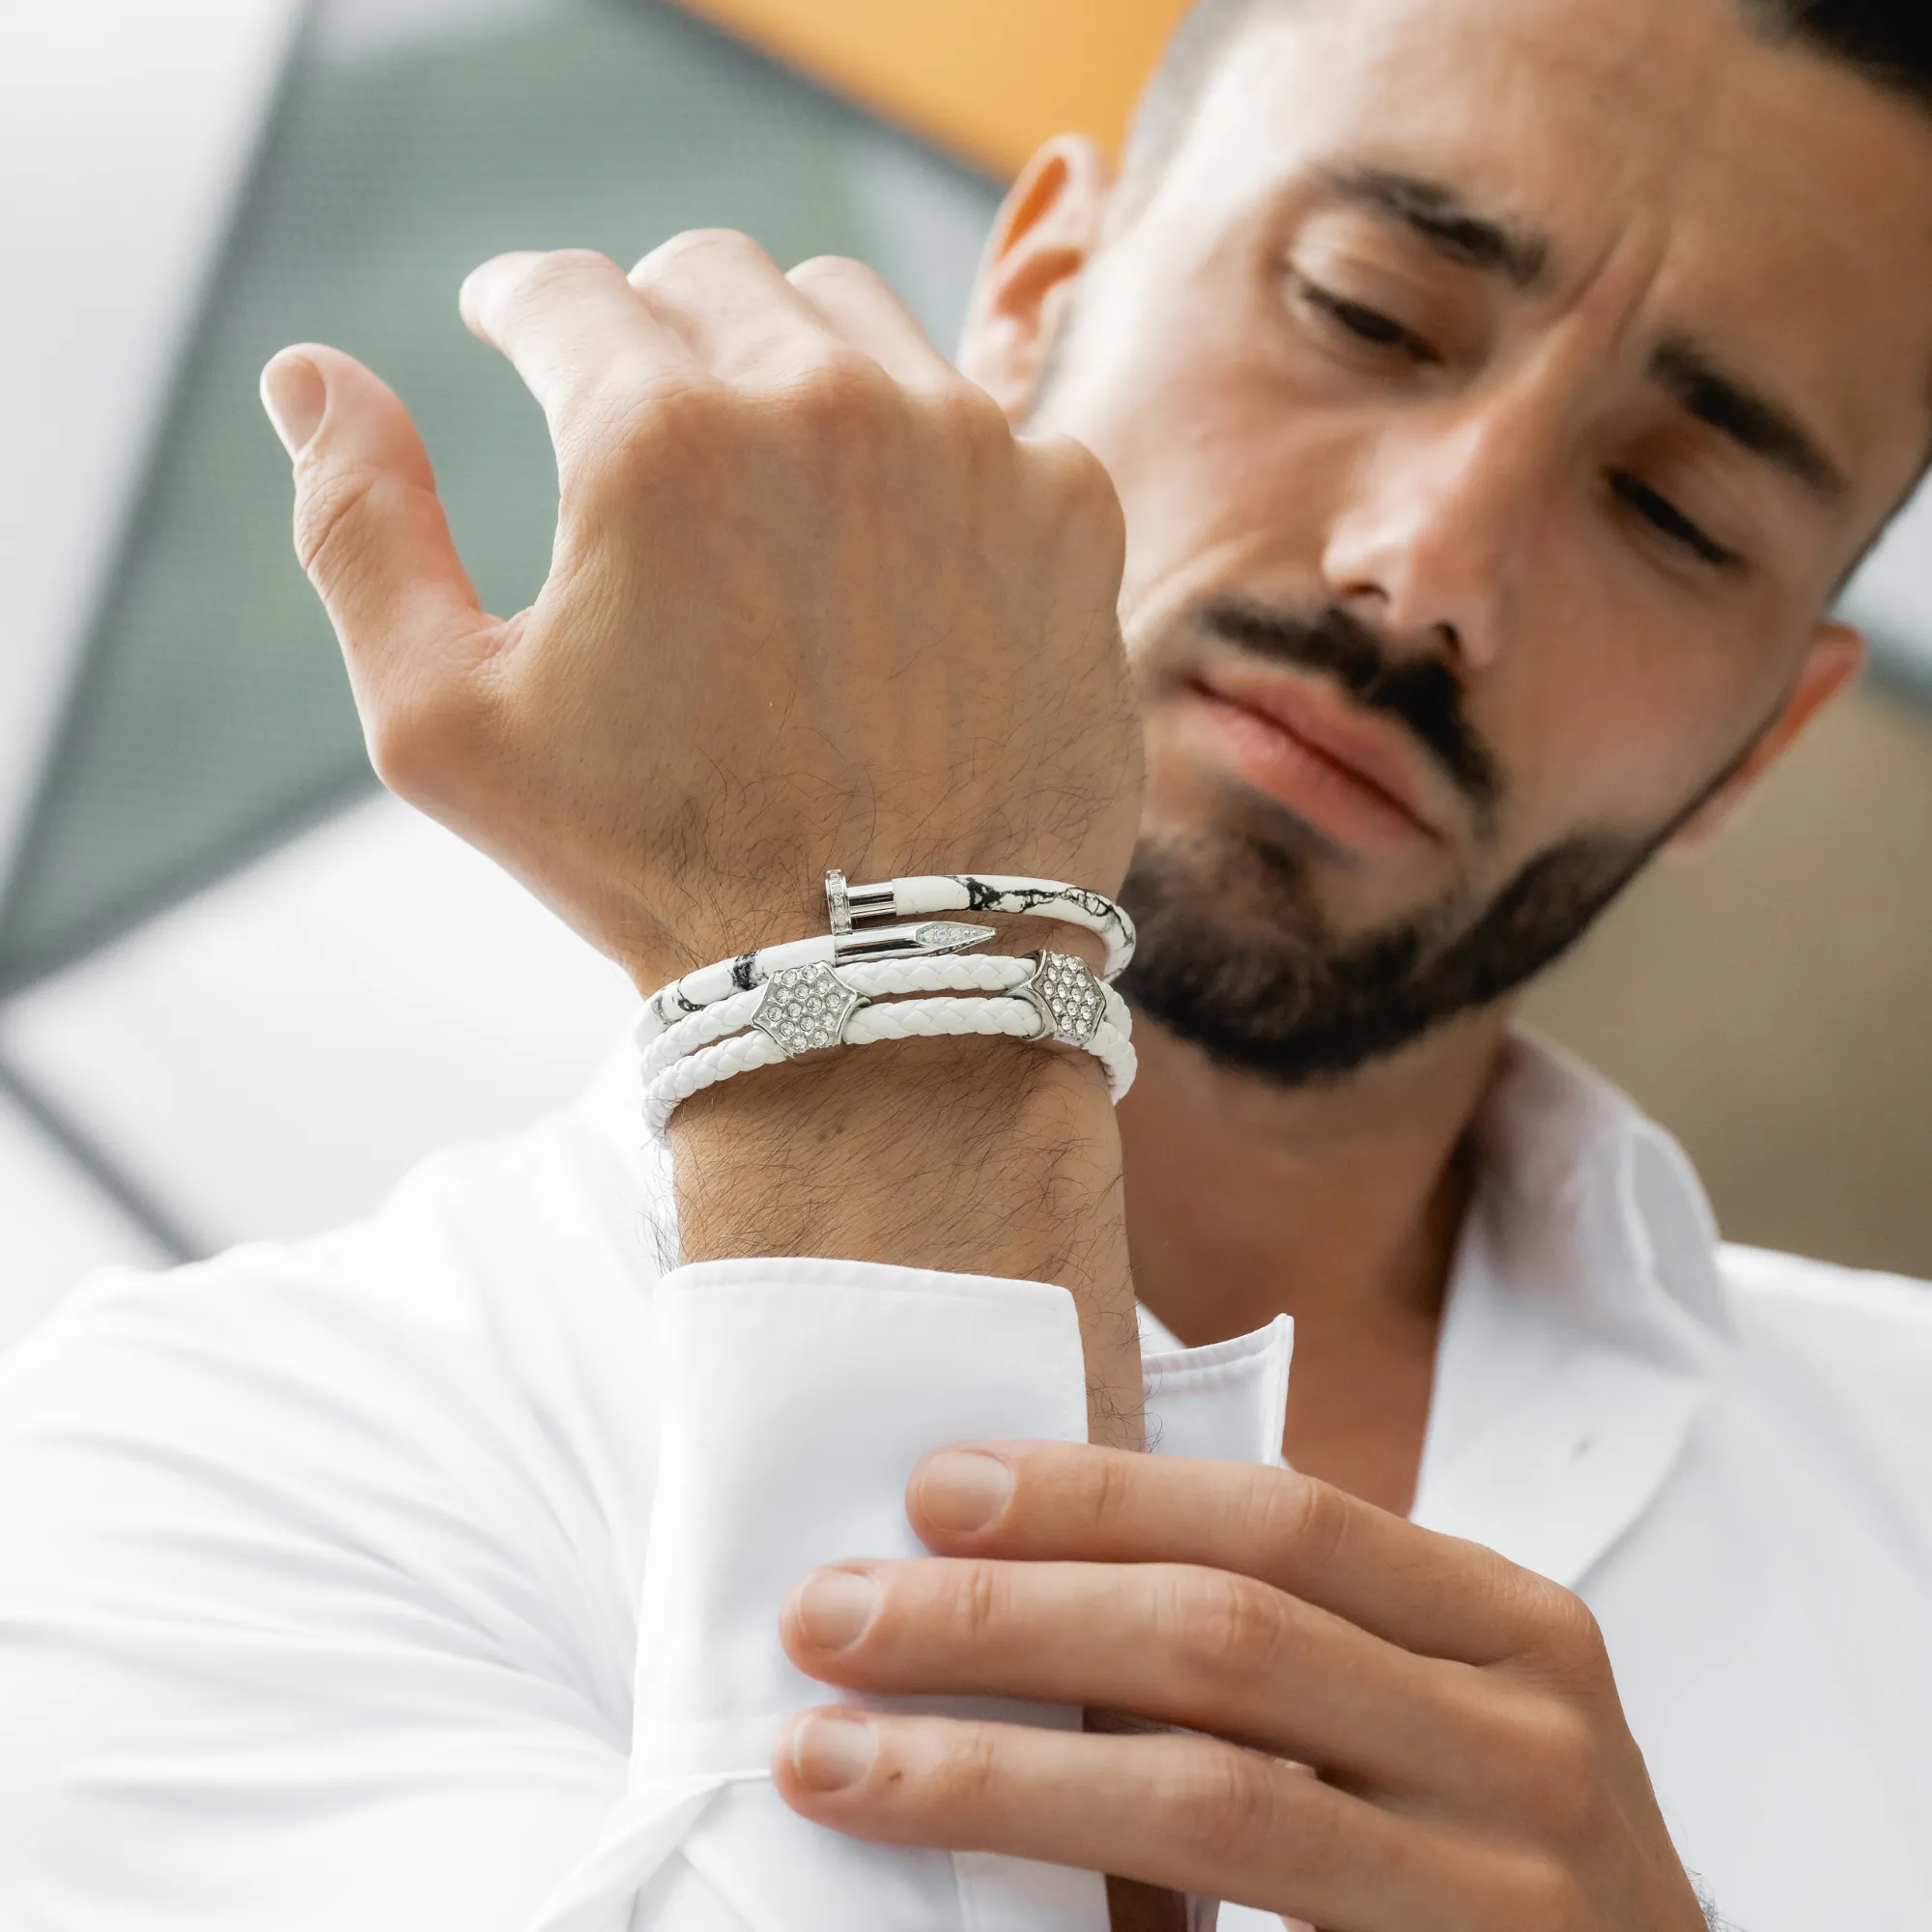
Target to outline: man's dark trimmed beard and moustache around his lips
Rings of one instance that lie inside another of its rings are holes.
[[[1153,659],[1209,634],[1260,661],[1320,672],[1366,711],[1403,724],[1455,784],[1488,840],[1505,802],[1501,759],[1468,719],[1439,659],[1403,659],[1339,607],[1217,599]],[[1748,753],[1748,746],[1739,759]],[[1455,889],[1368,933],[1325,918],[1308,840],[1265,821],[1144,835],[1121,898],[1140,927],[1121,993],[1211,1061],[1281,1086],[1333,1082],[1513,993],[1563,954],[1731,775],[1650,833],[1571,835],[1486,900]],[[1238,813],[1236,813],[1238,817]]]

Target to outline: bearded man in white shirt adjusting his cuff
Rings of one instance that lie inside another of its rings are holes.
[[[83,1294],[0,1397],[10,1922],[1932,1922],[1932,1312],[1509,1034],[1857,670],[1928,100],[1878,4],[1209,4],[1119,187],[1014,187],[970,381],[852,265],[500,259],[508,622],[278,357],[396,790],[641,989],[827,866],[1121,889],[1140,1082],[734,1078],[655,1300],[628,1076]]]

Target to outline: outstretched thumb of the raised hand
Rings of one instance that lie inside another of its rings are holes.
[[[384,719],[406,690],[487,655],[500,626],[477,603],[429,452],[386,383],[340,350],[299,344],[263,369],[261,394],[296,466],[296,554],[342,641],[381,769]]]

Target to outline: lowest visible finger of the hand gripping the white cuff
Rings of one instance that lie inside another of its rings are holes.
[[[1070,1864],[1331,1932],[1519,1922],[1455,1911],[1499,1891],[1472,1841],[1215,1739],[831,1708],[786,1725],[771,1770],[786,1804],[852,1837]]]

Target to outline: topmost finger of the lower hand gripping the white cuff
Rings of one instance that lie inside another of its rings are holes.
[[[1254,1463],[1066,1443],[941,1451],[914,1470],[906,1513],[945,1553],[1238,1571],[1461,1663],[1588,1642],[1569,1592],[1493,1549]]]

